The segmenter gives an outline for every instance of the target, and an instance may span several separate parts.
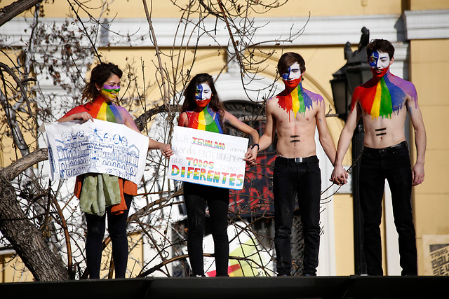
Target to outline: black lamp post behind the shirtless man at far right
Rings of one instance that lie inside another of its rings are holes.
[[[346,120],[350,112],[351,95],[354,88],[368,81],[372,74],[367,62],[366,46],[370,38],[370,32],[366,27],[361,29],[361,39],[358,43],[358,49],[351,50],[351,43],[344,45],[344,58],[347,63],[333,74],[330,81],[332,94],[335,104],[335,111],[338,117]],[[360,193],[358,190],[360,174],[360,162],[357,158],[363,150],[363,121],[358,122],[354,135],[352,137],[352,195],[354,212],[354,272],[355,274],[366,274],[365,254],[363,253],[363,215],[360,206]]]

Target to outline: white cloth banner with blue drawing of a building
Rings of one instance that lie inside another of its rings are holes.
[[[45,130],[52,181],[88,172],[142,179],[149,139],[126,125],[95,119],[46,123]]]

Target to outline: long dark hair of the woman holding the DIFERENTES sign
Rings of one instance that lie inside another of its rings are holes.
[[[213,111],[220,114],[220,116],[223,116],[223,111],[225,111],[225,106],[220,101],[220,97],[218,97],[217,90],[215,89],[215,84],[213,83],[213,78],[209,74],[202,73],[197,74],[190,80],[189,84],[187,85],[187,88],[184,90],[184,104],[182,104],[182,111],[194,111],[196,109],[196,102],[195,102],[195,92],[196,92],[196,85],[202,84],[202,83],[208,83],[210,86],[210,91],[212,92],[212,97],[210,97],[210,103],[209,107]]]

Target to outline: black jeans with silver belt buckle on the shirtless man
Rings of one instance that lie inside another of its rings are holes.
[[[273,175],[274,246],[278,275],[290,275],[290,234],[295,197],[298,198],[304,235],[304,274],[316,275],[320,245],[321,171],[316,155],[295,162],[277,157]]]

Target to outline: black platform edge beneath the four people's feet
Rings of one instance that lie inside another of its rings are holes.
[[[0,284],[1,298],[449,298],[449,277],[136,278]]]

